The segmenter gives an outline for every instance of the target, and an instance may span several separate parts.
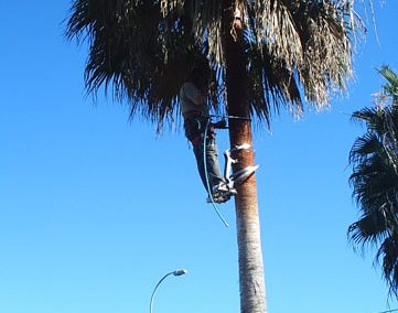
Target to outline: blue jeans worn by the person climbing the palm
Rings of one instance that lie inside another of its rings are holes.
[[[185,120],[184,122],[185,136],[193,145],[193,151],[196,158],[197,170],[201,175],[202,183],[206,191],[207,191],[207,181],[206,181],[206,173],[204,165],[205,162],[206,162],[209,187],[212,188],[213,186],[224,182],[224,179],[219,171],[218,149],[215,139],[215,133],[212,129],[207,130],[206,141],[204,140],[207,119],[208,118],[200,116],[192,118],[190,120]],[[205,147],[204,144],[206,144],[206,155],[204,155],[204,147]]]

